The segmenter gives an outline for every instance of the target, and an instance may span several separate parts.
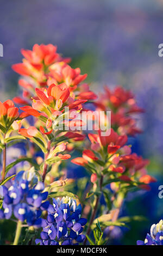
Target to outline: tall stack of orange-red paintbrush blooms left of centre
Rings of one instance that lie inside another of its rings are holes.
[[[36,44],[32,51],[21,52],[24,56],[23,63],[13,65],[12,69],[23,76],[18,81],[23,95],[15,97],[14,101],[25,105],[20,109],[35,117],[36,127],[22,127],[18,133],[36,143],[44,153],[48,142],[52,142],[54,137],[57,143],[82,141],[85,136],[76,132],[76,129],[85,123],[77,119],[78,113],[82,110],[83,103],[97,97],[87,84],[79,86],[87,75],[80,74],[79,68],[72,69],[67,64],[70,58],[62,58],[57,53],[57,47],[51,44]],[[70,127],[75,127],[73,132],[65,133]],[[57,143],[54,148],[58,147]],[[52,148],[51,146],[48,151]],[[64,149],[68,149],[68,145]],[[64,159],[64,156],[61,158]]]

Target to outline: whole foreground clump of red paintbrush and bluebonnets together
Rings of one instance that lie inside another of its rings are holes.
[[[112,91],[105,88],[97,99],[84,82],[87,75],[71,68],[71,59],[61,57],[56,46],[35,44],[33,50],[21,52],[22,63],[12,65],[12,69],[21,75],[18,84],[23,94],[0,102],[0,218],[17,222],[14,245],[24,225],[36,230],[30,241],[22,240],[26,244],[78,245],[88,240],[93,245],[89,237],[93,233],[95,244],[103,245],[109,240],[103,239],[105,228],[110,234],[114,226],[125,225],[119,214],[127,193],[133,188],[149,190],[149,184],[156,181],[148,175],[148,160],[133,153],[128,144],[128,136],[141,132],[133,114],[143,109],[122,87]],[[96,115],[92,118],[93,111],[87,106],[95,108],[102,119]],[[80,117],[84,111],[92,118],[89,133],[82,129],[87,127]],[[25,155],[7,165],[8,148],[14,150],[13,145],[22,139],[26,141]],[[82,151],[82,157],[71,162],[87,170],[79,182],[67,176],[65,160],[73,151]],[[31,168],[16,168],[21,162],[28,162]],[[78,198],[78,205],[73,198]],[[37,228],[42,228],[41,233]],[[155,231],[152,234],[152,239],[159,241]]]

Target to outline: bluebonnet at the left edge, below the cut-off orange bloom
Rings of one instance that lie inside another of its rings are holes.
[[[26,221],[29,226],[41,227],[42,211],[47,210],[49,202],[46,200],[48,192],[43,192],[44,184],[37,180],[34,169],[17,174],[13,184],[7,188],[3,186],[3,210],[0,218],[11,218]]]

